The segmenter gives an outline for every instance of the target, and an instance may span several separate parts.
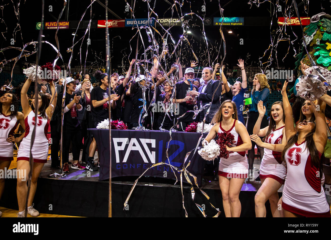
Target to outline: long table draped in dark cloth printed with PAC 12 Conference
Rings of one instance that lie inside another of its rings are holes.
[[[109,179],[109,130],[88,129],[93,134],[99,153],[100,176],[99,180]],[[172,132],[172,140],[169,143],[168,158],[170,164],[182,169],[186,153],[191,152],[188,161],[191,164],[186,169],[197,177],[198,185],[204,172],[205,161],[194,149],[201,133]],[[204,133],[204,137],[207,133]],[[204,139],[204,138],[203,138]],[[202,140],[203,140],[202,139]],[[169,132],[138,131],[138,130],[112,130],[112,177],[140,176],[147,168],[157,163],[169,163],[166,157],[166,149],[170,140]],[[202,146],[202,140],[199,146]],[[175,170],[180,179],[180,173]],[[155,166],[144,174],[145,176],[157,176],[176,179],[169,165]],[[191,181],[193,178],[190,177]],[[184,174],[183,181],[187,182]]]

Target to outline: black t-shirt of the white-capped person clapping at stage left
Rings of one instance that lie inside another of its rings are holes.
[[[71,101],[73,100],[75,94],[77,96],[80,96],[77,92],[72,92],[72,94],[69,94],[66,92],[66,100],[65,100],[65,106],[67,106]],[[79,99],[78,104],[82,105],[81,99]],[[81,129],[80,127],[80,122],[78,120],[78,115],[77,115],[77,106],[76,103],[73,104],[72,108],[64,113],[63,116],[63,130],[67,132],[74,132],[78,129]]]

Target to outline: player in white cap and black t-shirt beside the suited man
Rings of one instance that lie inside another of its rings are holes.
[[[194,78],[193,68],[187,68],[184,73],[185,80],[176,83],[176,97],[173,99],[173,103],[179,103],[179,114],[176,117],[182,116],[187,111],[193,111],[194,109],[194,98],[195,96],[190,96],[189,92],[192,90],[197,90],[198,87],[193,85],[191,81]],[[187,125],[194,122],[194,114],[192,112],[186,113],[184,117],[178,120],[175,129],[178,131],[185,131]],[[175,120],[177,122],[177,120]]]

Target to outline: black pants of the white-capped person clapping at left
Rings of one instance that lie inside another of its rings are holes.
[[[68,163],[69,161],[69,148],[70,142],[72,143],[72,160],[79,160],[80,153],[80,134],[81,129],[76,128],[74,131],[68,131],[63,129],[63,152],[62,152],[62,163]]]

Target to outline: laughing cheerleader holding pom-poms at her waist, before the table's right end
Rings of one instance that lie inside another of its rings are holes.
[[[230,100],[221,104],[213,117],[212,124],[214,126],[203,144],[209,143],[217,136],[218,132],[229,132],[234,136],[233,147],[226,146],[229,157],[220,159],[218,180],[225,216],[239,217],[241,213],[239,193],[248,174],[245,152],[252,148],[251,139],[244,124],[238,121],[236,104]]]

